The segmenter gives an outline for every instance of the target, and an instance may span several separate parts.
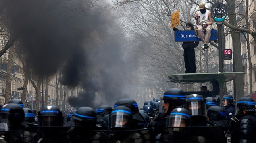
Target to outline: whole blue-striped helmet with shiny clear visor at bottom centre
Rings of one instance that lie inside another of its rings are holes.
[[[111,130],[127,130],[132,128],[132,113],[131,109],[125,106],[117,106],[113,109],[110,115]]]

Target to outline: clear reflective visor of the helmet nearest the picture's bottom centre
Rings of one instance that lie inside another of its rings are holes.
[[[131,114],[124,113],[121,111],[112,113],[111,115],[111,128],[120,127],[131,129]]]

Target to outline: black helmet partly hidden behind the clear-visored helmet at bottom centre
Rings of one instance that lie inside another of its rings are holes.
[[[138,105],[136,103],[136,101],[134,101],[133,99],[120,99],[119,101],[117,101],[114,104],[114,107],[117,106],[125,106],[131,109],[131,114],[133,115],[133,119],[137,120],[137,121],[144,121],[142,115],[139,114],[139,108]]]

